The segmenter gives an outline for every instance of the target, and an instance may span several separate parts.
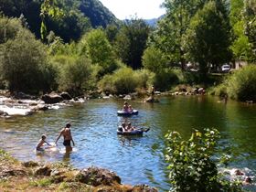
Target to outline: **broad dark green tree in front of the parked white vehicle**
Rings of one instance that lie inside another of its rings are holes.
[[[185,48],[188,59],[199,64],[203,77],[211,65],[217,68],[231,58],[229,20],[221,3],[209,1],[197,11],[187,30]]]

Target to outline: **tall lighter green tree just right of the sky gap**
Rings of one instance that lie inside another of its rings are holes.
[[[180,65],[185,69],[186,57],[183,48],[184,36],[190,19],[205,1],[199,0],[165,0],[165,17],[159,22],[151,42],[160,48],[170,63]]]

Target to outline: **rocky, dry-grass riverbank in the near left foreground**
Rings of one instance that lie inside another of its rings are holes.
[[[63,163],[22,163],[3,150],[0,162],[0,191],[157,191],[146,185],[123,185],[114,172],[95,166],[80,170]]]

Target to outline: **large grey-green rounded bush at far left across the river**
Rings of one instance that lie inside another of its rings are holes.
[[[16,22],[14,22],[16,25]],[[50,68],[46,48],[25,28],[0,45],[0,70],[10,91],[48,90]]]

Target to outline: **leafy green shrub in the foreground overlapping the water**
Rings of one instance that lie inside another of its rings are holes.
[[[220,192],[241,191],[219,176],[213,161],[219,131],[206,129],[205,133],[195,130],[190,139],[182,141],[179,133],[171,132],[166,136],[165,159],[169,163],[170,191],[176,192]]]

